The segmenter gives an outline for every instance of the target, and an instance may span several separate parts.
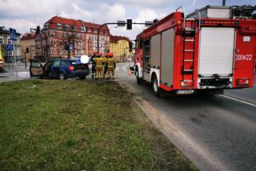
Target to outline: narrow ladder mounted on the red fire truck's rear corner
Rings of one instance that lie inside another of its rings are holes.
[[[194,40],[195,18],[184,19],[183,28],[183,58],[182,58],[182,82],[194,84]]]

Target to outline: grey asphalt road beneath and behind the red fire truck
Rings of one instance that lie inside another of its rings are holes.
[[[199,169],[256,170],[255,86],[224,96],[158,98],[149,85],[128,77],[129,65],[117,66],[118,81],[149,104],[150,119]]]

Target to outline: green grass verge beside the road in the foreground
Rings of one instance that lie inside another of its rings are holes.
[[[196,170],[116,82],[5,82],[0,94],[0,169]]]

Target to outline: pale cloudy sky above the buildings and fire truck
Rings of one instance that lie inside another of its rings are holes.
[[[256,0],[226,0],[227,6],[256,5]],[[12,27],[19,33],[42,26],[54,15],[102,24],[133,19],[134,22],[161,19],[183,6],[185,14],[206,5],[222,5],[222,0],[0,0],[0,26]],[[144,26],[133,30],[109,26],[110,33],[134,39]]]

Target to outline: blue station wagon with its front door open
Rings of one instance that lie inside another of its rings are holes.
[[[83,64],[79,58],[52,59],[44,66],[36,59],[30,60],[30,77],[85,79],[88,74],[90,74],[89,64]]]

